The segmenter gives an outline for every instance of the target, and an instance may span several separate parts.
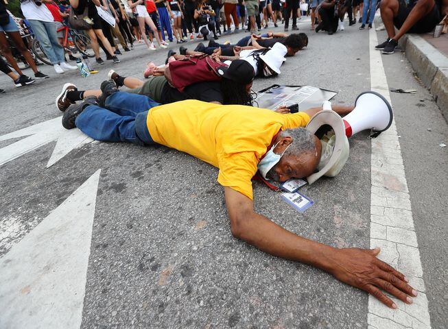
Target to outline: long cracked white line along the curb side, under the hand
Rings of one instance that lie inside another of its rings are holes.
[[[390,103],[389,86],[384,72],[375,26],[369,32],[370,88]],[[372,139],[372,194],[370,203],[370,247],[381,247],[379,258],[403,272],[418,290],[411,305],[392,298],[398,308],[392,310],[368,297],[368,328],[431,328],[423,269],[412,219],[408,183],[395,121],[390,128]]]

